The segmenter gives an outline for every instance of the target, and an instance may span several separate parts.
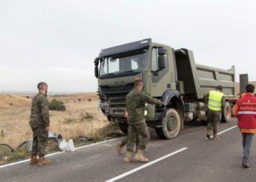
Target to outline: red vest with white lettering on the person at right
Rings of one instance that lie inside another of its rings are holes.
[[[256,97],[246,94],[237,100],[237,114],[240,128],[256,128]]]

